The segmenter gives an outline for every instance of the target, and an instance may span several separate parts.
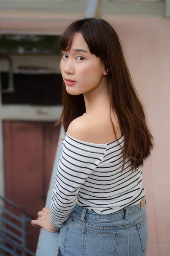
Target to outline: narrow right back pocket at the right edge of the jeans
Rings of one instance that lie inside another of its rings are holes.
[[[147,237],[148,237],[148,230],[147,230],[147,218],[144,219],[141,223],[137,224],[137,228],[139,231],[139,236],[142,245],[142,251],[146,252],[147,249]]]

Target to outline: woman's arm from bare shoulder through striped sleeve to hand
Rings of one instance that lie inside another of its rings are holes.
[[[81,126],[80,119],[75,119],[68,127],[68,134],[77,140],[90,141],[90,132],[85,124]],[[83,131],[85,129],[85,132]],[[92,129],[94,132],[95,129]],[[50,210],[43,208],[38,212],[37,220],[32,220],[33,226],[40,226],[49,232],[57,232],[67,220],[76,204],[81,185],[96,169],[104,157],[105,148],[95,148],[89,143],[78,143],[66,136],[62,142],[62,154],[57,166],[55,186],[52,192]]]

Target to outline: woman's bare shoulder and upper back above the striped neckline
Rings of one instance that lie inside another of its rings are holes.
[[[113,126],[105,122],[104,116],[84,115],[74,119],[68,126],[67,134],[88,143],[106,144],[116,140]],[[117,134],[118,138],[120,134]]]

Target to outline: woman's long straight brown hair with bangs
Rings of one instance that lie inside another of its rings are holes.
[[[124,135],[122,171],[125,158],[128,156],[131,159],[133,172],[133,169],[136,170],[140,165],[143,166],[144,160],[151,154],[153,136],[147,127],[144,106],[130,76],[119,36],[106,20],[94,17],[84,18],[74,21],[65,29],[59,50],[69,51],[71,49],[76,32],[81,32],[91,54],[100,57],[105,65],[111,102],[110,115],[111,111],[116,112],[121,134]],[[71,121],[85,113],[83,94],[68,94],[63,82],[62,106],[62,114],[56,125],[62,122],[66,132]],[[114,125],[113,129],[116,135]]]

